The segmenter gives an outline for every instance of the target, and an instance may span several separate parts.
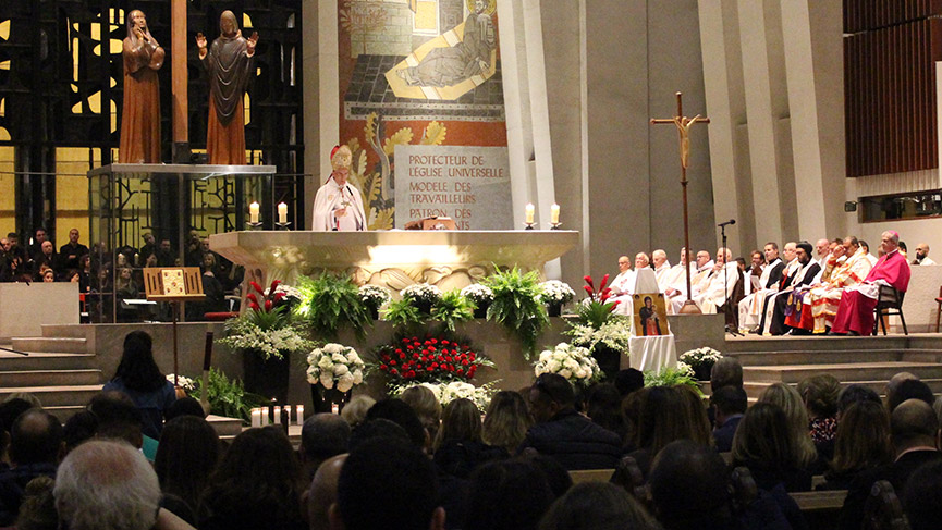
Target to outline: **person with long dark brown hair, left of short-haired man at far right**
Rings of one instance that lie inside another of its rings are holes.
[[[861,472],[885,466],[893,459],[890,415],[881,403],[860,402],[841,416],[834,439],[834,459],[818,490],[846,490]]]

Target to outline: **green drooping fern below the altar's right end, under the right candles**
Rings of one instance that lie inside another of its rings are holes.
[[[529,360],[536,352],[540,333],[549,325],[547,309],[540,303],[540,278],[536,271],[524,274],[514,267],[497,270],[482,282],[491,288],[494,299],[488,307],[488,320],[503,325],[517,335]]]

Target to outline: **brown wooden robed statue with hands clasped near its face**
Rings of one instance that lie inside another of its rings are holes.
[[[121,107],[120,163],[160,163],[160,79],[163,48],[150,35],[147,17],[127,15],[124,59],[124,102]]]

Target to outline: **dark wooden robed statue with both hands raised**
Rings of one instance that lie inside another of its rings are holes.
[[[207,50],[206,37],[196,36],[199,60],[209,73],[209,121],[206,153],[211,164],[245,164],[245,107],[243,99],[253,74],[258,34],[244,38],[232,11],[219,17],[220,36]]]

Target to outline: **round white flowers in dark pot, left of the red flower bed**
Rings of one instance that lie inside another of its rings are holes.
[[[342,409],[351,390],[363,383],[366,365],[350,346],[329,343],[307,354],[307,382],[317,412],[330,412],[333,404]]]

